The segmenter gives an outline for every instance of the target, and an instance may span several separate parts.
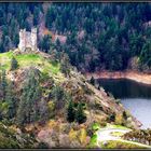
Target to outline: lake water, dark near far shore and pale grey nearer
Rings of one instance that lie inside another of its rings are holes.
[[[143,124],[143,128],[151,128],[151,85],[126,79],[99,79],[98,82],[106,92],[121,99],[123,106]]]

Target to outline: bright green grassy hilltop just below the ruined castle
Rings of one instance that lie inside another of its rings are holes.
[[[6,52],[0,54],[0,69],[9,70],[11,66],[12,57],[15,57],[18,61],[20,68],[35,66],[39,68],[42,72],[49,73],[52,72],[53,74],[57,74],[59,72],[59,64],[52,64],[51,60],[47,60],[40,56],[39,54],[13,54],[13,52]]]

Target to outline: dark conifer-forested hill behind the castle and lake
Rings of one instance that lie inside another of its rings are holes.
[[[150,70],[150,3],[1,3],[0,52],[17,46],[20,28],[44,24],[67,41],[39,36],[41,51],[65,51],[81,71]]]

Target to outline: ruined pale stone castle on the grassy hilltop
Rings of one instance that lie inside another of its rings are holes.
[[[20,29],[19,31],[19,44],[18,49],[25,52],[26,49],[31,49],[31,51],[37,51],[37,28],[32,28],[31,32],[26,31],[26,29]]]

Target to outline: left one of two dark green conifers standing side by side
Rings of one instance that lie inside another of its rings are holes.
[[[73,102],[72,100],[69,101],[68,109],[67,109],[67,120],[69,122],[73,122],[76,118],[74,109],[73,109]]]

